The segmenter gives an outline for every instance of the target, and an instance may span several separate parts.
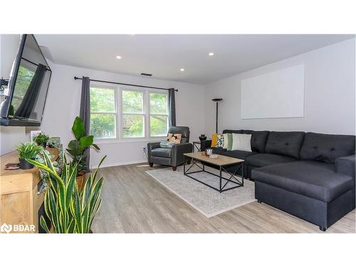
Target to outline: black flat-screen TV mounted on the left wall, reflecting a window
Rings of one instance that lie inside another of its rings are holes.
[[[1,103],[1,125],[41,125],[51,73],[35,37],[21,36],[9,93]]]

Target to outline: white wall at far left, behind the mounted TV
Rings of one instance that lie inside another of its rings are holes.
[[[9,78],[19,42],[19,34],[0,35],[0,77]],[[16,145],[27,140],[25,127],[0,126],[0,155],[14,151]]]

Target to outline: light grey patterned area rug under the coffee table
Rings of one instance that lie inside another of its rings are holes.
[[[197,167],[192,167],[190,171]],[[218,174],[219,171],[210,167],[206,170]],[[167,187],[171,192],[177,194],[178,197],[192,205],[195,209],[200,211],[206,217],[215,216],[222,212],[229,211],[238,206],[248,204],[255,201],[254,183],[244,179],[244,187],[238,187],[219,193],[218,191],[206,187],[194,179],[183,174],[183,167],[178,167],[177,171],[172,171],[172,168],[154,169],[147,171],[151,177],[155,178],[159,183]],[[200,179],[206,184],[214,187],[219,187],[219,177],[208,174],[206,172],[198,172],[191,174],[192,177]],[[228,174],[223,177],[229,178]],[[224,180],[223,180],[224,181]],[[226,188],[233,187],[235,184],[226,184]]]

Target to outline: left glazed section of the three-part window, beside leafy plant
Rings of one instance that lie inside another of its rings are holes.
[[[96,139],[116,137],[114,88],[90,87],[90,135]]]

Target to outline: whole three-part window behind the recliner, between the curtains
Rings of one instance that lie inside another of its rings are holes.
[[[90,86],[90,135],[100,140],[166,136],[168,94],[164,91]]]

